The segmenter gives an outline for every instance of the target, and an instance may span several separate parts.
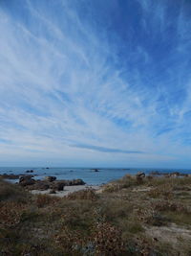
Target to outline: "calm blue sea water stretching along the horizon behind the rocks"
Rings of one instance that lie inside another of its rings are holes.
[[[100,185],[109,181],[120,178],[124,175],[135,175],[139,171],[149,174],[151,171],[159,171],[162,173],[180,172],[183,174],[191,174],[191,170],[175,170],[175,169],[145,169],[145,168],[130,168],[130,169],[98,169],[99,172],[94,172],[89,168],[32,168],[32,167],[0,167],[0,175],[2,174],[25,174],[27,170],[33,170],[32,175],[36,175],[35,179],[42,179],[44,176],[53,175],[57,179],[74,179],[82,178],[87,184]],[[16,180],[15,180],[16,181]]]

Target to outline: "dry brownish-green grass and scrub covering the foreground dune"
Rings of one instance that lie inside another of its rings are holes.
[[[126,175],[101,193],[0,180],[0,255],[191,255],[191,178]]]

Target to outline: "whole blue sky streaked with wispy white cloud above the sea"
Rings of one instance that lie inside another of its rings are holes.
[[[0,0],[0,166],[191,168],[191,1]]]

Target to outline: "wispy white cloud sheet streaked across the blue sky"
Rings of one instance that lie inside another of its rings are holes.
[[[67,1],[60,6],[64,13],[60,19],[56,13],[47,16],[40,4],[26,3],[28,23],[0,11],[4,35],[0,41],[0,138],[9,142],[0,141],[2,157],[110,165],[114,152],[92,151],[102,147],[121,151],[115,156],[116,164],[151,165],[177,159],[181,142],[173,141],[171,132],[155,137],[156,127],[166,123],[158,110],[159,96],[165,92],[144,87],[139,69],[132,74],[127,71],[124,79],[124,68],[115,66],[113,46],[82,23]],[[146,3],[144,12],[148,12]],[[163,9],[157,10],[163,26]],[[152,62],[141,45],[131,58],[140,56],[145,64]],[[180,120],[189,105],[188,97],[177,113],[166,103],[171,115],[179,115]],[[71,147],[81,144],[95,148]],[[185,156],[189,153],[190,149]]]

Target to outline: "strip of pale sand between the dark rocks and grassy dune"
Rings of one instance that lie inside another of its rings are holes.
[[[41,194],[41,195],[46,195],[49,194],[50,196],[56,196],[56,197],[66,197],[69,194],[76,192],[76,191],[80,191],[80,190],[84,190],[84,189],[95,189],[96,192],[99,192],[100,186],[90,186],[90,185],[77,185],[77,186],[65,186],[63,191],[56,191],[56,194],[49,194],[50,193],[50,189],[48,190],[32,190],[32,194],[36,195],[36,194]]]

